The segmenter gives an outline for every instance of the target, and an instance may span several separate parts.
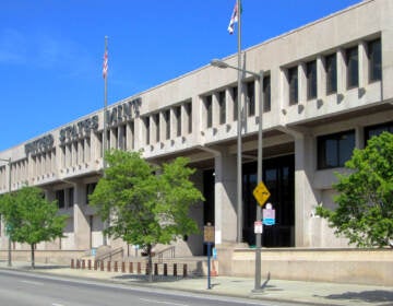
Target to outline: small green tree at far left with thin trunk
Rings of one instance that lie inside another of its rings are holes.
[[[0,198],[0,213],[12,242],[31,246],[32,268],[35,268],[35,245],[63,237],[66,215],[58,215],[56,201],[45,199],[37,187],[22,189]]]

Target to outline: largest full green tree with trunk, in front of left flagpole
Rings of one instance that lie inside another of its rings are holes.
[[[199,231],[189,216],[190,207],[204,200],[190,181],[194,169],[183,157],[158,167],[138,152],[119,150],[108,152],[106,160],[109,166],[90,203],[107,222],[106,234],[147,250],[152,281],[152,248]]]

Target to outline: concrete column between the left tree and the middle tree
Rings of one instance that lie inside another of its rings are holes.
[[[74,186],[74,245],[76,249],[88,249],[91,246],[91,227],[86,208],[86,185],[75,184]]]

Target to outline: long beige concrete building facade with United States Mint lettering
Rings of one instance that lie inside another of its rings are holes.
[[[366,0],[243,50],[243,69],[264,71],[263,89],[245,74],[241,86],[242,209],[237,211],[237,71],[210,64],[0,152],[0,193],[38,186],[69,215],[66,238],[37,249],[90,249],[105,244],[104,224],[88,205],[107,149],[142,150],[160,164],[188,156],[206,199],[193,208],[201,228],[215,226],[216,245],[254,244],[260,93],[263,94],[263,181],[276,225],[266,247],[347,247],[317,205],[333,208],[335,172],[354,148],[393,131],[393,2]],[[209,59],[206,59],[209,60]],[[237,56],[224,59],[237,66]],[[240,214],[241,224],[237,223]],[[237,237],[240,226],[241,239]],[[1,225],[0,248],[8,248]],[[121,245],[121,242],[107,242]],[[203,237],[174,243],[177,254],[202,255]],[[25,246],[14,244],[14,249]]]

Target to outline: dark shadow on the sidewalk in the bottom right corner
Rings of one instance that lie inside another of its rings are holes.
[[[317,296],[317,295],[314,295]],[[393,291],[373,290],[362,292],[346,292],[343,294],[331,294],[326,296],[318,296],[326,299],[346,299],[362,301],[367,303],[383,303],[381,305],[393,305]],[[390,302],[389,304],[385,304]]]

